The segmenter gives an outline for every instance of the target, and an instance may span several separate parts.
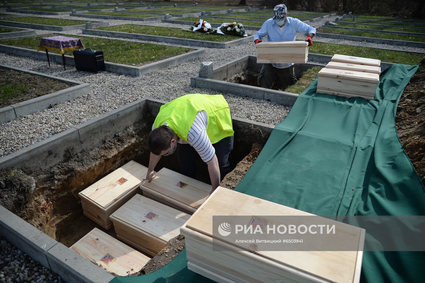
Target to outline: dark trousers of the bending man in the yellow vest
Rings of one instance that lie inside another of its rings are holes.
[[[218,159],[218,167],[220,168],[220,181],[227,173],[230,172],[229,154],[233,149],[233,136],[221,139],[219,142],[212,144],[215,148],[215,155]],[[177,159],[180,164],[180,172],[190,178],[196,176],[196,159],[201,157],[190,144],[178,144]]]

